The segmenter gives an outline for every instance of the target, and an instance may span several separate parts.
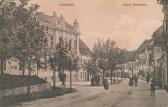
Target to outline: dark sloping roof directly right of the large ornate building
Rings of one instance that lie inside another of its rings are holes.
[[[92,52],[81,39],[79,39],[79,51],[81,55],[85,56],[90,56]]]

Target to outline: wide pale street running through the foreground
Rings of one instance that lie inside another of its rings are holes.
[[[124,81],[110,85],[107,91],[102,86],[90,87],[87,84],[74,86],[78,90],[75,93],[25,102],[19,107],[158,107],[145,83],[129,87]]]

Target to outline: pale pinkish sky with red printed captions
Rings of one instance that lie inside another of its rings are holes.
[[[157,0],[31,0],[40,11],[63,14],[70,24],[77,19],[80,38],[92,49],[97,39],[112,39],[119,48],[137,49],[162,25]]]

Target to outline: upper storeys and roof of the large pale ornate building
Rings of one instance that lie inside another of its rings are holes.
[[[53,12],[52,16],[41,12],[36,15],[36,18],[39,20],[41,25],[47,28],[46,45],[51,54],[60,38],[62,38],[64,42],[71,45],[74,54],[79,56],[80,31],[77,20],[74,20],[71,25],[66,22],[63,15],[57,16],[56,12]]]

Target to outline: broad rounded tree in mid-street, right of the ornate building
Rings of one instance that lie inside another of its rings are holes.
[[[113,40],[107,39],[104,41],[98,39],[93,47],[92,61],[97,63],[97,66],[102,70],[103,78],[110,71],[112,83],[113,71],[117,65],[127,61],[128,53],[126,49],[118,48]]]

